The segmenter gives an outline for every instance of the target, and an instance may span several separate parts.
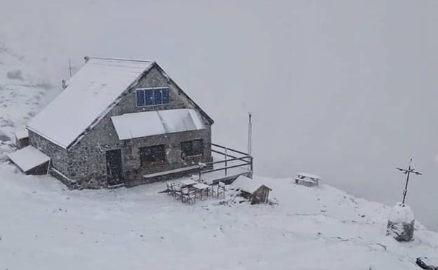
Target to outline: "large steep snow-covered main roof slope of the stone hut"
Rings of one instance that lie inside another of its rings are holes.
[[[154,62],[89,58],[27,128],[67,148]]]

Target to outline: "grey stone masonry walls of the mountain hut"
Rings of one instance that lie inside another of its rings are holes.
[[[88,133],[73,144],[68,150],[62,149],[44,137],[29,131],[29,141],[34,147],[52,158],[52,166],[62,175],[53,173],[55,177],[72,189],[98,189],[107,187],[107,168],[105,152],[108,150],[121,149],[122,174],[126,187],[133,187],[138,184],[167,180],[171,177],[178,177],[196,172],[185,172],[179,175],[166,175],[153,177],[145,180],[142,175],[157,173],[164,170],[173,170],[186,166],[196,165],[198,162],[212,161],[211,157],[211,126],[204,119],[206,126],[203,130],[190,130],[180,133],[167,133],[164,135],[153,135],[140,137],[132,140],[119,140],[116,130],[111,121],[111,116],[128,114],[133,112],[147,112],[161,109],[196,109],[190,100],[180,93],[170,79],[153,67],[139,81],[136,88],[168,87],[170,103],[154,105],[149,107],[136,107],[135,89],[124,93],[119,102],[108,112],[98,123],[88,130]],[[147,125],[147,123],[143,123]],[[181,158],[180,142],[202,139],[204,154],[202,156]],[[164,144],[166,149],[166,161],[160,165],[140,166],[140,147],[148,147]]]

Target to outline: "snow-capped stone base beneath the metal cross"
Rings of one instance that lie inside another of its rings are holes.
[[[387,235],[391,235],[397,241],[411,241],[414,223],[415,219],[411,208],[408,205],[397,203],[390,213]]]

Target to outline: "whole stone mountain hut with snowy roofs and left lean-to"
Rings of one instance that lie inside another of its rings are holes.
[[[19,168],[93,189],[189,175],[213,160],[213,120],[156,62],[85,59],[27,125],[29,145],[9,155]]]

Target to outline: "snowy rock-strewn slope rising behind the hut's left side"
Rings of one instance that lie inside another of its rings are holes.
[[[32,55],[0,40],[0,161],[11,151],[15,131],[58,93],[44,70],[46,58]]]

